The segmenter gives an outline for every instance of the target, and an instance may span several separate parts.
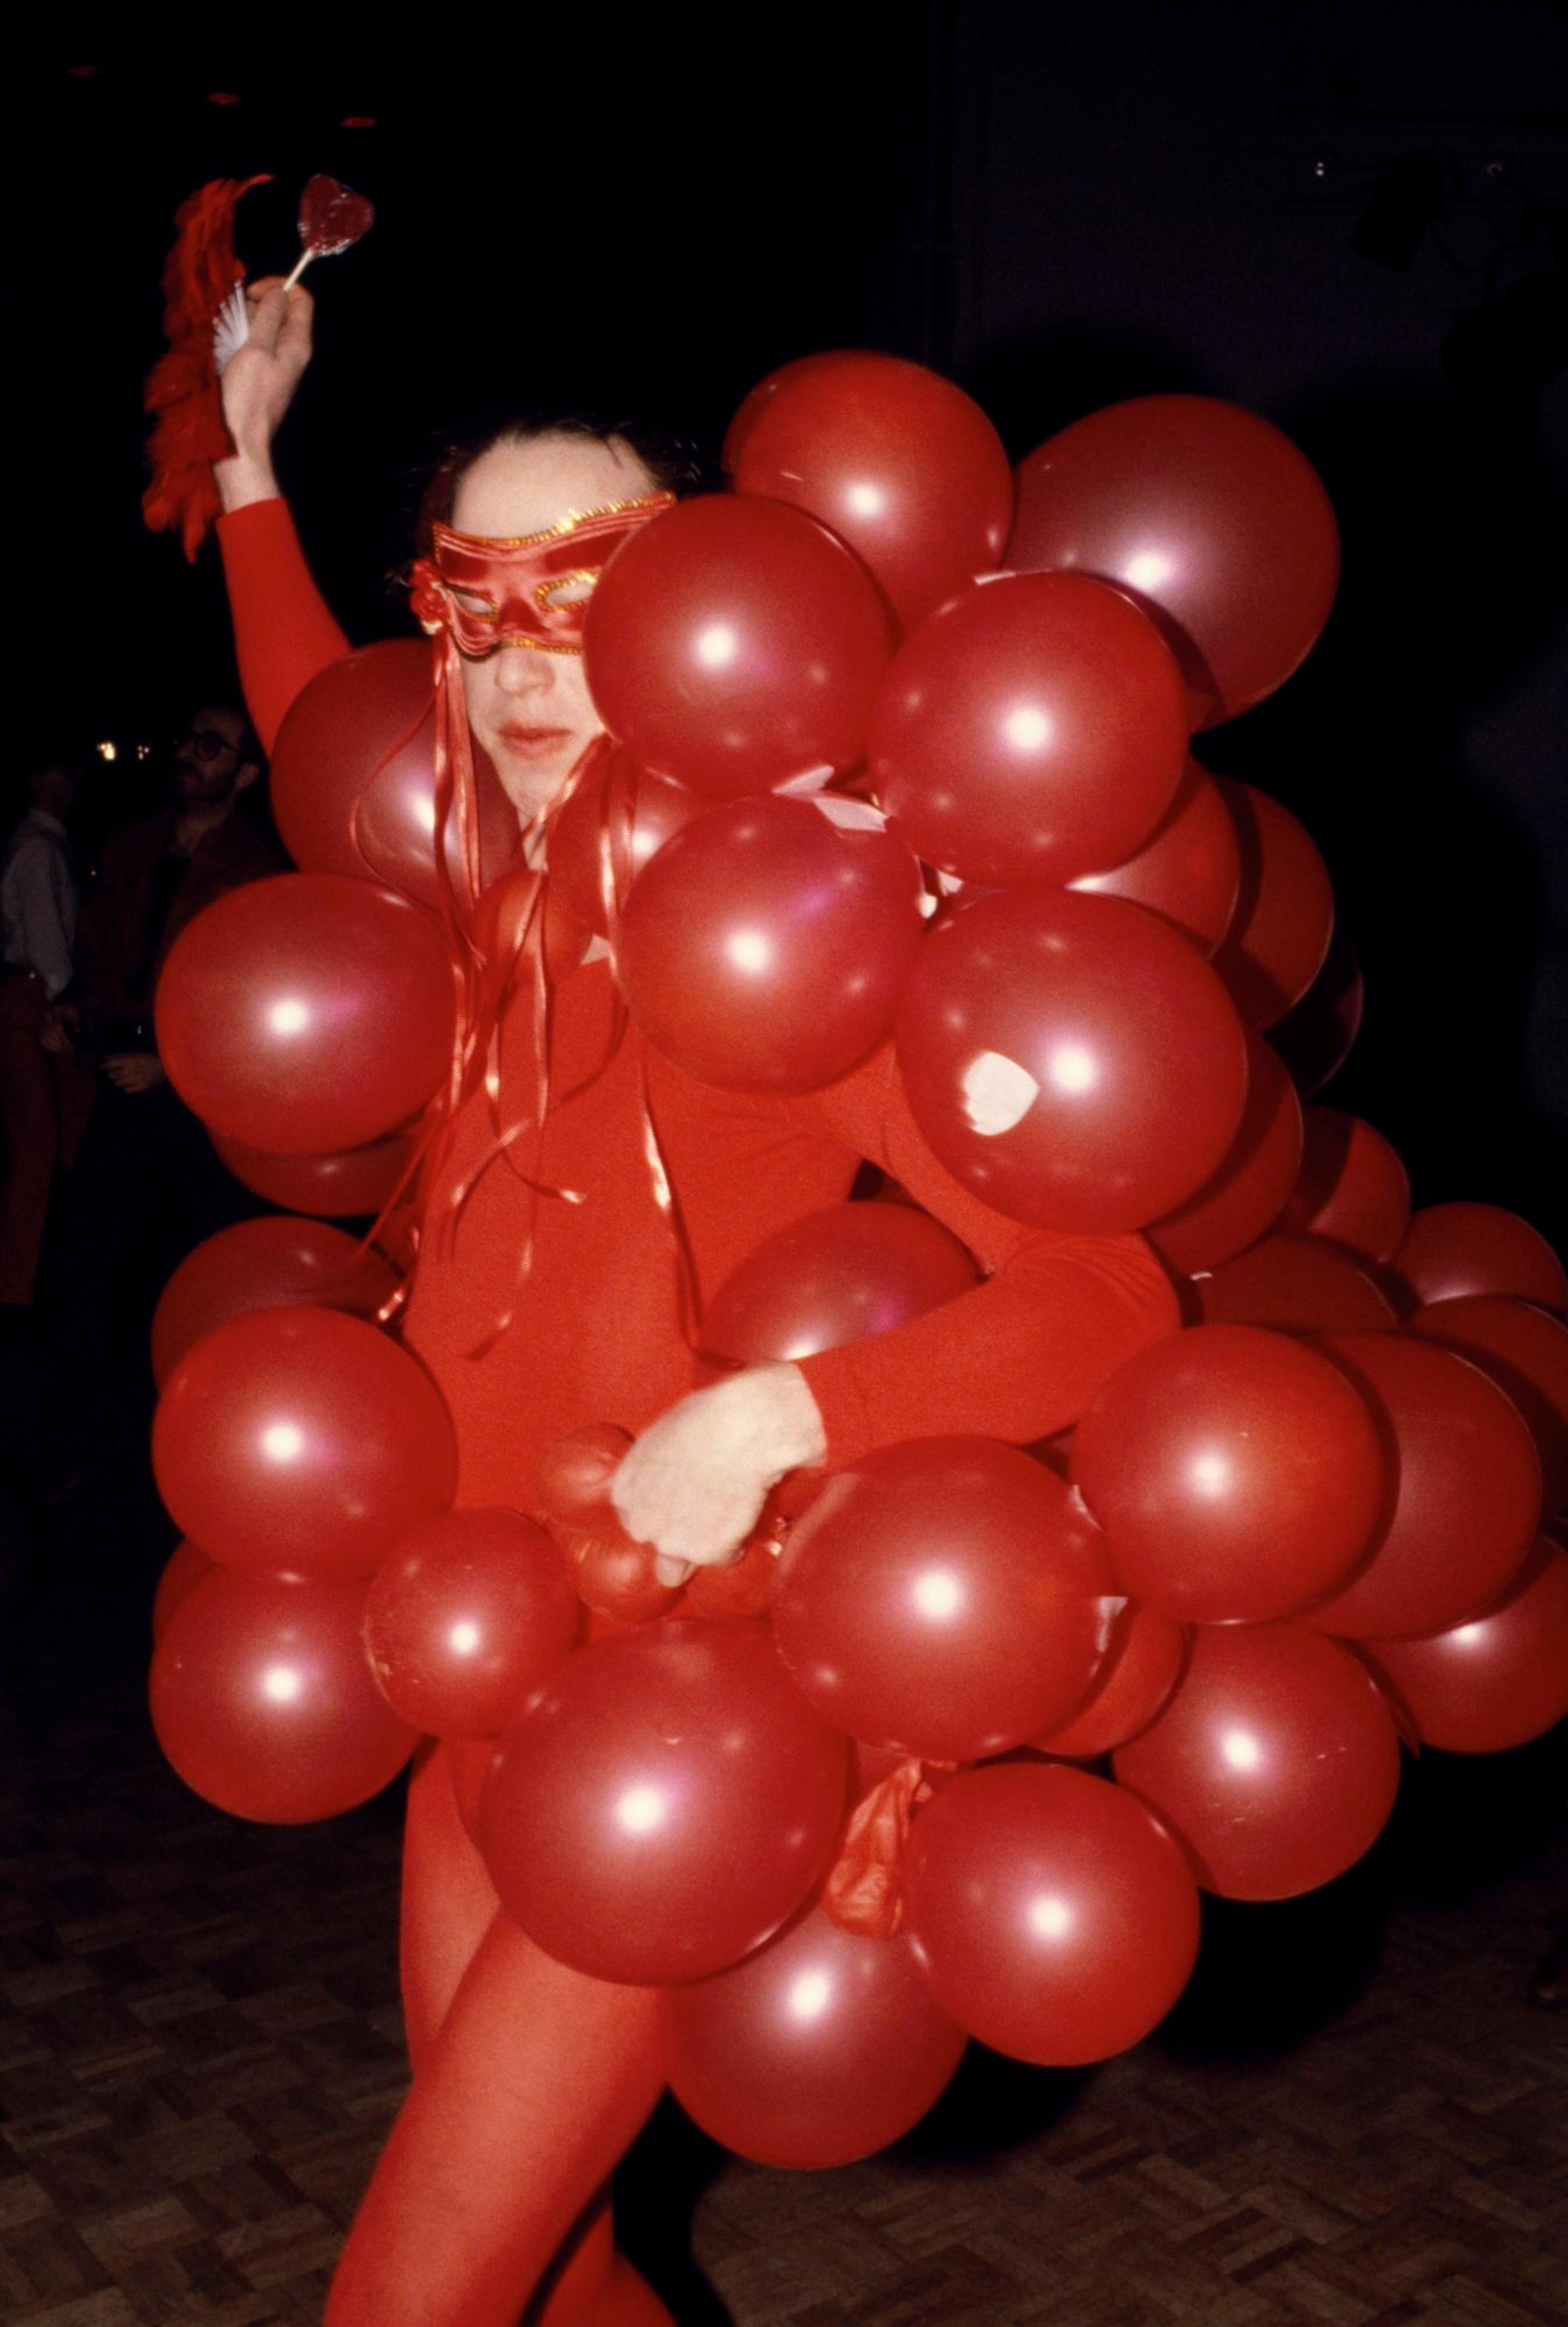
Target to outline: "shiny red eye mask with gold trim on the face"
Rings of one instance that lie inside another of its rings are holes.
[[[451,631],[468,656],[496,647],[582,654],[582,619],[600,572],[630,533],[672,505],[675,493],[647,493],[519,542],[435,526],[433,556],[414,565],[414,614],[426,631]]]

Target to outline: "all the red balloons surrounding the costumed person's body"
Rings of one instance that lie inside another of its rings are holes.
[[[395,1271],[319,1217],[226,1231],[156,1322],[186,1540],[154,1720],[268,1820],[447,1738],[509,1913],[665,1985],[698,2122],[812,2166],[905,2132],[970,2034],[1047,2064],[1135,2043],[1200,1890],[1354,1864],[1400,1738],[1494,1752],[1568,1713],[1540,1533],[1568,1285],[1512,1215],[1412,1212],[1370,1124],[1303,1105],[1359,1022],[1328,875],[1189,749],[1328,614],[1333,514],[1287,437],[1154,396],[1012,475],[949,382],[824,354],[747,398],[726,463],[586,614],[614,747],[549,835],[568,940],[600,931],[647,1040],[728,1089],[891,1040],[965,1187],[1142,1229],[1186,1329],[1054,1466],[882,1447],[786,1482],[737,1566],[672,1589],[610,1503],[623,1431],[584,1417],[528,1513],[454,1510],[442,1401],[377,1329]],[[437,859],[433,733],[423,647],[323,673],[275,759],[300,870],[205,915],[161,987],[177,1087],[298,1212],[405,1187],[449,1075],[454,901],[491,968],[528,910],[468,894],[451,831]],[[798,1359],[975,1282],[914,1208],[833,1205],[719,1289],[703,1357]],[[877,1864],[849,1906],[824,1887],[847,1831]]]

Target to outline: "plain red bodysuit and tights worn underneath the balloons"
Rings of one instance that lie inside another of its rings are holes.
[[[270,745],[288,703],[347,640],[316,596],[284,503],[226,517],[221,542],[247,703]],[[914,1129],[891,1047],[826,1091],[735,1096],[693,1082],[635,1029],[612,1049],[612,1010],[603,961],[554,989],[551,1091],[575,1096],[549,1112],[537,1177],[584,1201],[535,1203],[498,1161],[451,1247],[428,1238],[419,1261],[405,1338],[451,1408],[461,1503],[528,1508],[537,1452],[561,1431],[616,1422],[635,1433],[700,1380],[642,1147],[644,1094],[698,1303],[777,1229],[840,1201],[861,1157],[991,1273],[912,1324],[800,1364],[828,1464],[945,1431],[1042,1438],[1077,1419],[1114,1366],[1177,1329],[1175,1294],[1142,1238],[1026,1229],[958,1187]],[[503,1049],[503,1117],[505,1082]],[[479,1091],[458,1117],[444,1184],[491,1138]],[[426,1191],[435,1217],[442,1191]],[[530,1222],[533,1266],[512,1324],[493,1338]],[[514,2327],[547,2257],[656,2099],[656,1997],[551,1964],[496,1913],[444,1757],[409,1794],[405,2004],[414,2090],[354,2227],[328,2322]],[[540,2318],[565,2327],[665,2313],[610,2266],[596,2232]]]

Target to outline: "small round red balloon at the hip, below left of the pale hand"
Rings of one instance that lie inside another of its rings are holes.
[[[365,1596],[382,1696],[430,1736],[496,1736],[572,1650],[561,1552],[516,1510],[447,1510],[398,1538]]]

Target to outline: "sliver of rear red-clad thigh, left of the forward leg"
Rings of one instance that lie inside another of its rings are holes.
[[[414,2076],[498,1906],[496,1885],[458,1815],[451,1762],[430,1741],[419,1748],[409,1778],[398,1922],[402,2029]]]

